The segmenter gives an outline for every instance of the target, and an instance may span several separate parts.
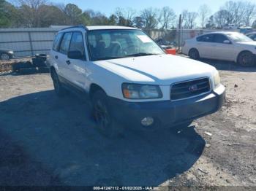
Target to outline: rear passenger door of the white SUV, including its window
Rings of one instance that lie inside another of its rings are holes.
[[[59,53],[58,53],[58,67],[59,67],[59,74],[61,77],[68,79],[71,81],[70,71],[69,71],[69,63],[67,58],[67,53],[69,52],[69,44],[72,38],[72,32],[64,33],[64,36],[61,40],[61,44],[59,46]]]

